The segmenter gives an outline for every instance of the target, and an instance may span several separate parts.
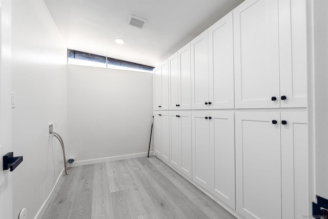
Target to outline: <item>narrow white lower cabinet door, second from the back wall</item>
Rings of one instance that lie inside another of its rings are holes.
[[[162,122],[162,158],[164,161],[170,163],[170,118],[169,111],[161,111]]]

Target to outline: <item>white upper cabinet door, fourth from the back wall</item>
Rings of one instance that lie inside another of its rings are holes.
[[[178,51],[180,78],[180,109],[191,109],[190,44]]]

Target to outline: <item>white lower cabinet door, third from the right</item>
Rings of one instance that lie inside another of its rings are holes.
[[[234,112],[210,112],[211,192],[235,209]]]

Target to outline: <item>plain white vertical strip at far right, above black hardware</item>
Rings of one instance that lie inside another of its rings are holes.
[[[328,198],[328,1],[313,1],[316,194]]]

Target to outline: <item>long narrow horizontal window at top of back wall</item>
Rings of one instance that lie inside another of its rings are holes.
[[[149,73],[153,72],[154,69],[152,66],[131,63],[116,58],[80,52],[72,49],[67,50],[67,64]]]

